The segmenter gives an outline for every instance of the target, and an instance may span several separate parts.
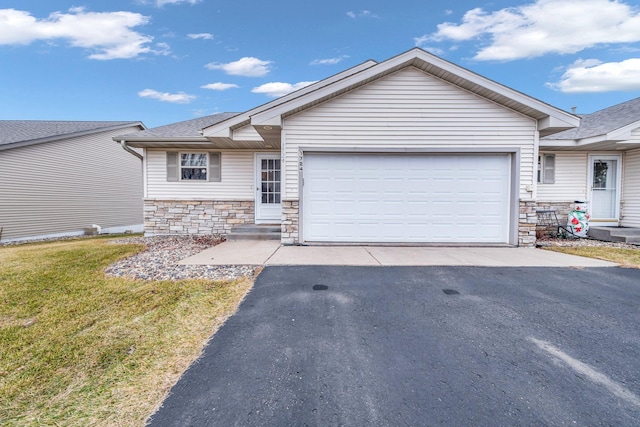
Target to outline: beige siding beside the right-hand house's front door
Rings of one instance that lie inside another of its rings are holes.
[[[553,184],[538,183],[538,201],[569,202],[587,199],[587,153],[541,151],[540,154],[555,154],[556,168]]]

